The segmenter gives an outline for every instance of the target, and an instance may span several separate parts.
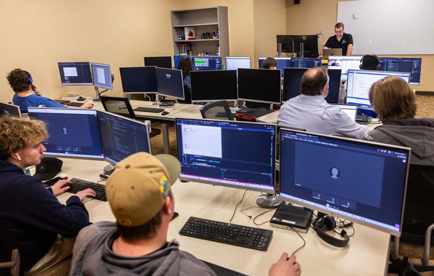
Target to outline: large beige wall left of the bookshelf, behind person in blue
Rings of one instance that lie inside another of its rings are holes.
[[[92,86],[62,86],[57,62],[111,65],[113,91],[122,95],[119,67],[143,66],[143,57],[173,55],[170,10],[180,0],[20,0],[0,4],[0,101],[13,92],[6,74],[32,73],[44,96],[95,95]]]

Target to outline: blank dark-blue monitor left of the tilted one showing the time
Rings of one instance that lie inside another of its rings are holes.
[[[125,94],[157,94],[155,66],[119,68],[122,91]]]

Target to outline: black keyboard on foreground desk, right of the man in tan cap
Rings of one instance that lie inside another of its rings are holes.
[[[180,234],[265,251],[273,231],[191,216],[182,227]]]

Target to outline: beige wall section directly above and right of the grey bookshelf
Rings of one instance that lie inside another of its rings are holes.
[[[253,0],[181,0],[181,9],[227,6],[231,56],[254,56]]]

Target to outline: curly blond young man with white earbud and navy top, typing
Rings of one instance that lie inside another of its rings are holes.
[[[96,195],[86,189],[63,205],[55,196],[69,189],[63,187],[68,180],[46,189],[38,178],[24,173],[40,163],[46,138],[42,121],[0,117],[0,225],[18,241],[20,265],[31,275],[71,254],[71,238],[89,224],[81,201]]]

